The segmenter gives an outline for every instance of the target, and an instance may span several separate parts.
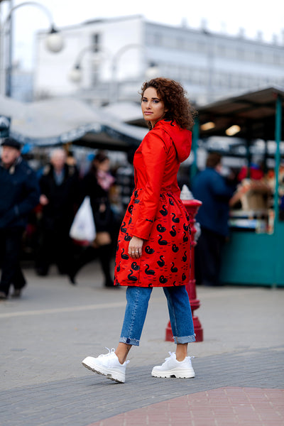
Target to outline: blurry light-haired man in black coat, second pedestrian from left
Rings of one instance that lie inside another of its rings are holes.
[[[55,148],[50,164],[40,177],[40,243],[36,261],[38,275],[48,275],[52,263],[60,274],[67,274],[72,263],[70,226],[79,197],[79,177],[75,165],[66,164],[66,152]]]

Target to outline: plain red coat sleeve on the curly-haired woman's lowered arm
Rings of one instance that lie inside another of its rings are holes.
[[[148,133],[141,147],[143,164],[145,165],[146,186],[143,188],[141,200],[136,212],[136,224],[133,235],[141,239],[149,239],[151,229],[159,205],[160,189],[165,172],[167,148],[157,133]]]

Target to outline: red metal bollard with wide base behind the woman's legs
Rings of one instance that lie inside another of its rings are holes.
[[[192,319],[193,326],[195,328],[195,339],[196,342],[203,342],[203,329],[198,317],[194,315],[194,311],[200,307],[200,301],[197,299],[196,295],[196,286],[195,286],[195,215],[197,214],[198,209],[202,205],[202,202],[199,200],[182,200],[187,213],[190,216],[190,229],[191,229],[191,250],[190,250],[190,280],[187,283],[186,290],[188,297],[190,298],[190,307],[192,310]],[[172,327],[170,326],[170,321],[168,322],[168,327],[165,329],[165,341],[173,342],[173,332]]]

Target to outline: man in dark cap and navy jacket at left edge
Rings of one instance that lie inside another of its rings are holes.
[[[13,138],[1,142],[0,162],[0,300],[21,295],[26,284],[20,266],[21,241],[28,213],[38,204],[35,172],[21,158],[21,144]]]

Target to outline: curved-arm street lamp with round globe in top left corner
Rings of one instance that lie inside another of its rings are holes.
[[[6,70],[5,70],[5,66],[3,67],[4,72],[5,72],[4,89],[1,90],[1,92],[4,92],[7,97],[11,97],[11,77],[12,77],[11,21],[12,21],[13,12],[16,9],[18,9],[22,6],[37,6],[39,9],[41,9],[45,13],[46,16],[48,16],[48,20],[50,22],[50,31],[48,32],[47,38],[45,39],[45,47],[48,50],[50,50],[50,52],[53,52],[53,53],[58,53],[63,48],[62,36],[55,29],[55,25],[53,23],[53,16],[50,13],[49,9],[47,9],[45,6],[43,6],[43,4],[40,4],[36,1],[23,1],[23,3],[17,4],[16,6],[13,6],[9,11],[8,16],[6,17],[6,19],[3,23],[2,30],[1,30],[1,44],[2,44],[1,52],[2,52],[3,56],[4,56],[4,47],[5,47],[5,45],[4,45],[5,41],[4,40],[6,38],[6,35],[8,35],[8,37],[7,37],[7,40],[8,40],[7,44],[8,45],[6,46],[6,53],[7,53]],[[4,62],[5,61],[3,61],[3,63]]]

